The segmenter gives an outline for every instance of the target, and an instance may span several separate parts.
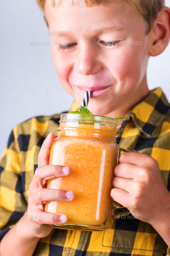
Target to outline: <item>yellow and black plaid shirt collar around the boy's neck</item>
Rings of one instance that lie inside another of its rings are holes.
[[[71,106],[71,111],[78,110],[80,106],[75,101]],[[170,104],[167,101],[165,94],[161,88],[156,88],[151,93],[139,102],[127,115],[127,119],[121,125],[132,119],[134,124],[142,129],[142,132],[148,137],[152,135],[154,130],[165,119],[165,115],[170,109]]]

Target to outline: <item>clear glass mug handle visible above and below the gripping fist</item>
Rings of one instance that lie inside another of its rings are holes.
[[[126,150],[123,148],[118,147],[118,157],[117,157],[117,163],[119,162],[120,153],[124,152],[131,152],[130,150]],[[120,204],[119,204],[120,205]],[[119,206],[117,202],[114,201],[113,208],[112,208],[112,218],[120,218],[123,215],[131,213],[127,208],[124,206]]]

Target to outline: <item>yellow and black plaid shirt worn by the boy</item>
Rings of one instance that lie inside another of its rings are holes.
[[[78,104],[74,102],[72,110],[76,108]],[[153,90],[127,117],[118,132],[119,146],[156,159],[163,182],[170,191],[170,104],[166,96],[160,88]],[[37,168],[39,150],[50,127],[58,135],[59,120],[60,115],[34,117],[16,126],[10,135],[0,162],[1,237],[27,211],[29,185]],[[131,214],[128,218],[115,219],[112,228],[106,231],[53,229],[39,240],[34,252],[36,256],[166,254],[170,255],[170,250],[155,229]]]

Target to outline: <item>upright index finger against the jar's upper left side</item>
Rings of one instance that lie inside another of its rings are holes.
[[[51,144],[55,139],[54,132],[50,132],[44,140],[38,154],[38,167],[48,165],[50,159]]]

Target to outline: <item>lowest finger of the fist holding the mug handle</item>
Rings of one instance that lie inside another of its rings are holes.
[[[119,204],[123,205],[126,208],[130,208],[131,206],[131,197],[130,194],[119,188],[113,188],[110,193],[113,200],[118,202]]]

